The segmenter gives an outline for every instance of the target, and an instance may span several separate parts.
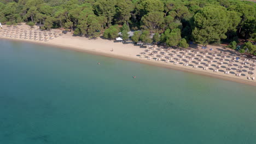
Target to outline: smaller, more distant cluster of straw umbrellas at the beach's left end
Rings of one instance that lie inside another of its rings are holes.
[[[39,41],[49,41],[50,39],[61,36],[62,33],[57,31],[43,32],[39,29],[19,29],[18,27],[7,27],[0,30],[0,37],[9,37],[17,39],[31,39]]]

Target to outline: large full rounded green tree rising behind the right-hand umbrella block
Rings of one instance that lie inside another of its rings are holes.
[[[193,17],[194,29],[192,36],[196,43],[207,45],[219,43],[225,39],[228,31],[226,10],[218,7],[205,7]]]

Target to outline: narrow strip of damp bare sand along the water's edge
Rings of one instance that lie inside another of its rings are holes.
[[[256,86],[255,81],[237,79],[235,77],[228,77],[228,76],[212,74],[212,73],[204,73],[203,71],[199,71],[199,70],[196,70],[196,69],[188,69],[186,67],[178,67],[176,65],[168,65],[168,64],[165,64],[165,63],[159,63],[159,62],[156,62],[156,61],[149,61],[147,59],[142,59],[142,58],[132,58],[132,57],[129,57],[129,56],[124,56],[124,55],[115,55],[114,53],[110,53],[110,52],[107,53],[107,52],[100,52],[100,51],[96,51],[96,50],[94,51],[94,50],[90,50],[90,49],[81,49],[81,48],[79,49],[78,47],[64,46],[64,45],[60,45],[60,44],[45,43],[45,42],[41,43],[40,41],[32,41],[32,40],[25,40],[25,39],[13,39],[13,38],[2,38],[2,39],[11,40],[11,41],[25,42],[25,43],[32,43],[32,44],[39,44],[39,45],[45,45],[45,46],[53,46],[53,47],[58,47],[58,48],[61,48],[61,49],[74,50],[74,51],[78,51],[78,52],[86,52],[86,53],[90,53],[92,55],[100,55],[100,56],[105,56],[105,57],[118,58],[118,59],[122,59],[124,61],[131,61],[131,62],[137,62],[137,63],[147,64],[147,65],[153,65],[153,66],[161,67],[161,68],[180,70],[180,71],[184,71],[186,73],[193,73],[193,74],[196,74],[196,75],[209,76],[209,77],[213,77],[213,78],[217,78],[217,79],[222,79],[222,80],[227,80],[227,81],[243,83],[243,84],[246,84],[246,85]]]

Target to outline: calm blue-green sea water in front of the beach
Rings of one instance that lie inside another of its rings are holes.
[[[0,40],[0,143],[254,144],[256,88]]]

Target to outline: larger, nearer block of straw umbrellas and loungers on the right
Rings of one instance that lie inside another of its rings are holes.
[[[247,76],[248,80],[255,80],[255,59],[240,58],[236,55],[225,56],[216,53],[200,52],[183,49],[163,49],[163,47],[148,47],[139,53],[140,58],[153,59],[165,63],[179,64],[187,67],[213,70],[216,73]]]

